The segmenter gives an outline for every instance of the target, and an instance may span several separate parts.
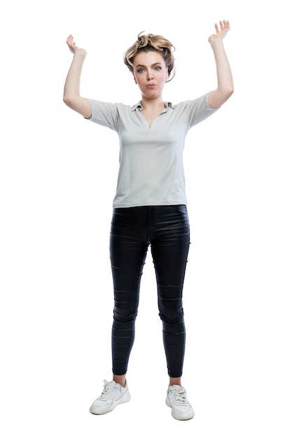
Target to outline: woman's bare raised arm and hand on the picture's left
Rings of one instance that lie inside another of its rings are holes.
[[[81,71],[87,53],[85,50],[77,47],[72,35],[68,36],[67,44],[74,57],[65,81],[63,100],[69,108],[89,119],[91,117],[90,103],[88,99],[80,95]]]

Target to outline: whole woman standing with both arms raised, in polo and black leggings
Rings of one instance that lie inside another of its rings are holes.
[[[150,246],[169,376],[166,404],[177,420],[194,416],[181,384],[186,339],[182,292],[190,245],[183,146],[188,130],[213,114],[233,92],[223,46],[230,24],[223,21],[215,29],[209,43],[214,51],[218,87],[176,105],[162,99],[165,83],[174,76],[174,45],[163,36],[139,34],[125,52],[124,62],[141,92],[141,100],[134,106],[81,97],[79,85],[86,52],[77,47],[73,36],[67,39],[74,57],[64,86],[65,104],[84,118],[115,130],[120,141],[110,233],[113,379],[104,381],[102,394],[90,407],[92,414],[106,414],[130,400],[126,372],[134,342],[141,274]]]

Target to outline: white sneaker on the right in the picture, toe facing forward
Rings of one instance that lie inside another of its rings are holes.
[[[182,386],[169,386],[165,402],[169,408],[172,408],[172,416],[176,420],[190,420],[195,415],[186,398],[186,390]]]

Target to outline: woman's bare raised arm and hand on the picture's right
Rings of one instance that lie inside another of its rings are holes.
[[[220,108],[229,99],[234,90],[230,64],[223,45],[223,38],[229,31],[230,24],[224,20],[220,22],[220,29],[218,24],[215,24],[215,29],[216,34],[209,36],[208,41],[214,52],[218,87],[209,93],[208,104],[211,108]]]

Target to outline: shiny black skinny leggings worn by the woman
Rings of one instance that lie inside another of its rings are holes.
[[[170,377],[179,377],[183,372],[186,343],[182,292],[190,246],[185,205],[113,209],[110,238],[114,289],[113,374],[127,372],[134,343],[141,275],[149,245],[158,288],[167,372]]]

